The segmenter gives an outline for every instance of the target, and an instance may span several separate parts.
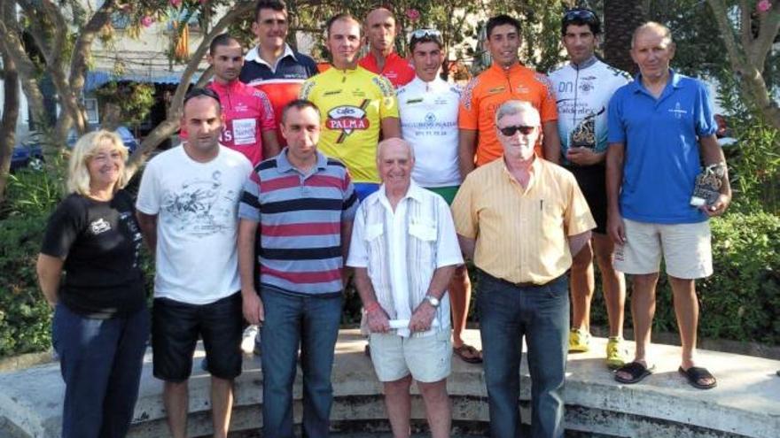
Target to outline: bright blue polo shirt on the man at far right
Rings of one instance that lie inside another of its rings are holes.
[[[626,147],[622,216],[660,224],[706,220],[690,206],[690,196],[701,172],[698,137],[716,128],[706,86],[674,70],[658,99],[644,88],[641,73],[619,88],[609,104],[608,142]]]

